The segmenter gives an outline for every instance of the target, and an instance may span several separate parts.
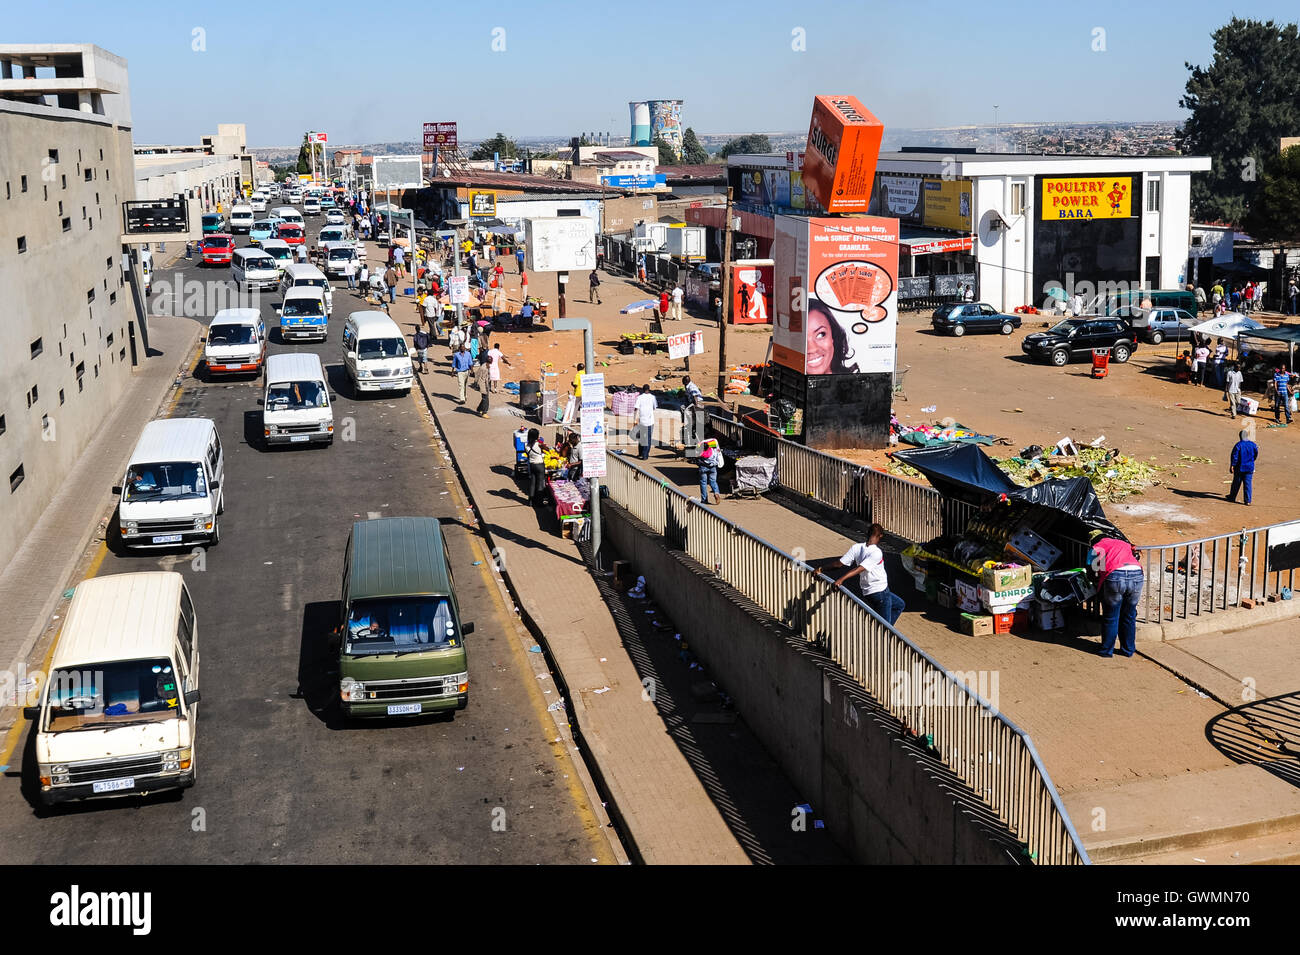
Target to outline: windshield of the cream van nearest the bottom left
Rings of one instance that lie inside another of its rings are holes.
[[[174,719],[181,685],[166,657],[116,660],[49,677],[48,730],[104,729]]]

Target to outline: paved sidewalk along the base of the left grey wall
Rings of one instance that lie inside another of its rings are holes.
[[[120,483],[140,429],[156,417],[185,373],[183,363],[199,331],[192,318],[150,317],[150,357],[133,372],[127,390],[0,573],[0,607],[5,612],[0,661],[10,670],[51,625],[77,561],[103,535],[101,518],[112,507],[110,489]]]

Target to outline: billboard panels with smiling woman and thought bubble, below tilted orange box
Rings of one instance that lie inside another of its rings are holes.
[[[807,376],[893,372],[898,220],[775,223],[772,359]]]

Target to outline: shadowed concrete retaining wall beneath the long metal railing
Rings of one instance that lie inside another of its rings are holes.
[[[1019,860],[988,807],[835,663],[612,502],[601,517],[604,539],[677,608],[673,622],[710,676],[854,859]]]

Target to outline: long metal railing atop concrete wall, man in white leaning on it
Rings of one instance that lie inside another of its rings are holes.
[[[606,456],[610,498],[814,643],[987,803],[1048,865],[1087,864],[1028,734],[861,599],[660,477]]]

